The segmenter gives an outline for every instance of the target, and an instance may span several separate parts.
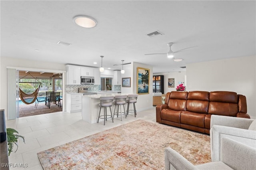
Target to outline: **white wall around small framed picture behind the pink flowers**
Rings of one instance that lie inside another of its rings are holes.
[[[153,75],[164,75],[164,94],[170,91],[176,91],[176,87],[179,85],[179,82],[184,82],[183,85],[186,86],[186,71],[177,71],[170,73],[156,73]],[[168,87],[168,79],[174,78],[174,88]]]

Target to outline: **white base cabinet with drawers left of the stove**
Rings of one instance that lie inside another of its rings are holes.
[[[82,111],[83,94],[66,94],[66,110],[68,113]]]

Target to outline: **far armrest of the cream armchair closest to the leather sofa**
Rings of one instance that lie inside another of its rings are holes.
[[[210,122],[210,128],[212,128],[213,125],[222,125],[222,126],[227,126],[227,127],[248,129],[253,121],[254,121],[254,119],[212,115],[211,122]]]

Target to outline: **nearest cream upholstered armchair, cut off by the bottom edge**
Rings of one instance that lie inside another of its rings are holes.
[[[194,166],[172,148],[165,149],[165,170],[254,170],[256,148],[230,138],[222,138],[221,159]]]

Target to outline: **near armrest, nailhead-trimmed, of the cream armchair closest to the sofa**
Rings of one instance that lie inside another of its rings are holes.
[[[210,145],[212,161],[220,161],[222,138],[231,138],[253,148],[256,148],[256,131],[242,128],[214,125],[210,129]]]

